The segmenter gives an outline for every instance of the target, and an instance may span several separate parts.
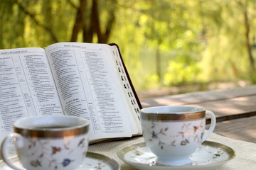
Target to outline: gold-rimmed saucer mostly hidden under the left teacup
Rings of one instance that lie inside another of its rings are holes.
[[[18,167],[22,167],[18,162],[18,157],[14,156],[10,158],[10,161]],[[12,170],[7,166],[3,160],[0,160],[0,169],[1,170]],[[109,157],[106,157],[103,154],[96,154],[92,152],[87,152],[84,162],[76,170],[119,170],[119,164]]]

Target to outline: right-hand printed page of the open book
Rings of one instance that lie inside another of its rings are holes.
[[[90,120],[90,141],[132,136],[133,118],[109,45],[60,42],[46,53],[63,111]]]

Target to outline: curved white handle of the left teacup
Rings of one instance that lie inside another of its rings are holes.
[[[6,137],[4,137],[4,140],[3,142],[1,143],[1,157],[3,158],[4,162],[6,164],[8,164],[12,169],[15,169],[15,170],[24,170],[24,169],[20,169],[18,168],[17,166],[15,166],[14,164],[12,164],[10,162],[10,160],[8,159],[7,157],[7,154],[6,154],[6,144],[7,144],[7,141],[11,138],[16,138],[16,147],[17,148],[21,148],[21,147],[24,147],[25,143],[24,143],[24,139],[21,135],[19,135],[18,133],[11,133],[9,135],[7,135]]]

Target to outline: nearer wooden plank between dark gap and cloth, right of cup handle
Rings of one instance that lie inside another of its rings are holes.
[[[206,125],[208,128],[209,125]],[[213,132],[234,140],[256,143],[256,116],[216,123]]]

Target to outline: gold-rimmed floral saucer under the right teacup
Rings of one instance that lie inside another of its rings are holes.
[[[120,149],[117,155],[123,162],[142,170],[185,170],[185,169],[216,169],[235,157],[235,152],[228,146],[216,142],[205,141],[191,155],[192,164],[183,166],[166,166],[156,164],[153,154],[144,142],[129,145]]]

